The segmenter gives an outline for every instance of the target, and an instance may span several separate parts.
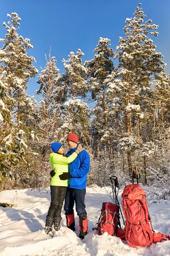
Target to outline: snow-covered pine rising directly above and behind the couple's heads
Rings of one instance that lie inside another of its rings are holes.
[[[90,113],[87,103],[82,100],[88,91],[87,69],[81,59],[83,55],[78,49],[77,55],[70,52],[68,60],[62,60],[66,70],[62,74],[62,83],[67,86],[68,102],[65,102],[63,125],[57,130],[57,138],[63,142],[69,133],[75,132],[80,142],[89,148]]]

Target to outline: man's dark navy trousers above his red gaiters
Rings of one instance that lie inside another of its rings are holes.
[[[79,217],[87,216],[85,210],[85,189],[71,189],[67,188],[65,195],[64,210],[66,214],[74,213],[74,202],[76,203],[76,212]]]

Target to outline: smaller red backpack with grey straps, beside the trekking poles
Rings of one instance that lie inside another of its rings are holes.
[[[108,235],[114,236],[119,223],[119,212],[116,204],[103,203],[101,215],[97,223],[97,231],[101,236],[102,233],[108,232]]]

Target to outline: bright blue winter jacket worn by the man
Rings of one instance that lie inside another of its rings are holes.
[[[69,151],[65,156],[69,157],[76,148],[69,148]],[[78,157],[76,157],[73,162],[68,164],[68,172],[70,172],[72,176],[72,178],[68,179],[68,188],[85,189],[87,174],[89,171],[90,157],[88,152],[83,150],[78,154]]]

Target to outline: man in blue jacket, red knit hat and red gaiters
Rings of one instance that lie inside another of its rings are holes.
[[[69,151],[66,157],[70,156],[78,146],[78,137],[76,134],[69,134],[67,137]],[[79,238],[84,239],[88,231],[88,217],[85,210],[86,179],[90,170],[90,157],[87,151],[83,150],[78,157],[68,164],[68,173],[59,175],[61,180],[68,179],[68,188],[65,195],[65,215],[67,227],[75,231],[74,202],[79,216]]]

